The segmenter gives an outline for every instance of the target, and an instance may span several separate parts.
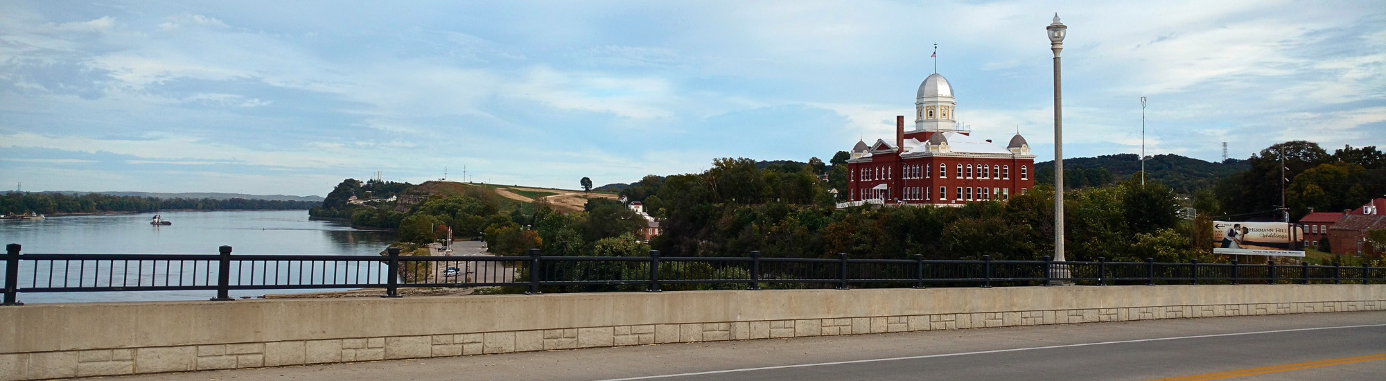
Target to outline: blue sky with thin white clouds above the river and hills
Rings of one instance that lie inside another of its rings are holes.
[[[0,1],[0,188],[577,188],[894,136],[934,72],[1053,158],[1386,145],[1375,1]]]

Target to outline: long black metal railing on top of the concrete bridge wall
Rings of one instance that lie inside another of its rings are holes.
[[[1308,263],[1156,263],[1042,260],[927,260],[660,256],[402,256],[388,255],[233,255],[218,254],[21,254],[6,247],[4,305],[19,294],[100,291],[511,287],[517,292],[762,290],[852,287],[994,287],[1113,284],[1371,284],[1386,283],[1386,269]]]

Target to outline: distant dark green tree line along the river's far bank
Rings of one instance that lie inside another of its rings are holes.
[[[7,193],[0,198],[0,213],[61,215],[61,213],[104,213],[104,212],[157,212],[157,211],[304,211],[317,205],[316,201],[273,201],[245,198],[155,198],[134,195],[61,193]]]

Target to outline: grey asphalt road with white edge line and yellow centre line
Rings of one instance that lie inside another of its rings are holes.
[[[1386,380],[1386,312],[667,344],[112,380]]]

